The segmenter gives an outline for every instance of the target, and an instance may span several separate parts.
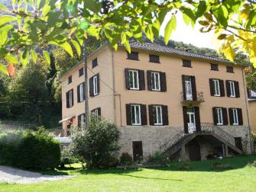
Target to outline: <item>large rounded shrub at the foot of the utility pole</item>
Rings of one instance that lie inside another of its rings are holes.
[[[86,163],[86,168],[108,168],[112,155],[120,149],[119,134],[114,123],[92,115],[89,127],[77,126],[71,130],[68,149],[73,158]]]

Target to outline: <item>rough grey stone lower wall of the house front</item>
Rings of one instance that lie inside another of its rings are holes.
[[[234,137],[241,136],[243,146],[251,152],[248,126],[219,126]],[[183,130],[183,126],[118,126],[118,130],[121,132],[119,144],[121,146],[120,155],[122,152],[128,152],[133,155],[132,142],[142,141],[143,156],[146,158],[148,155],[154,154],[154,152],[160,151],[160,146],[173,139],[180,130]],[[199,144],[202,146],[201,156],[202,159],[206,159],[206,155],[214,152],[214,147],[207,141],[199,139]],[[186,158],[189,159],[188,152],[186,151]]]

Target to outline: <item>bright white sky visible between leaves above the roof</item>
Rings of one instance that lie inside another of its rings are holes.
[[[164,37],[164,28],[167,24],[167,21],[170,20],[171,14],[168,13],[163,26],[160,29],[160,35]],[[200,25],[196,24],[194,29],[191,26],[187,26],[184,21],[182,14],[177,14],[177,27],[171,35],[171,40],[182,41],[183,43],[191,43],[194,46],[207,47],[215,49],[214,43],[212,43],[212,34],[213,32],[201,33],[199,31]]]

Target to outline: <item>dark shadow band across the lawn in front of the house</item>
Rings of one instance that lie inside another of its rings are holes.
[[[201,161],[201,162],[186,162],[189,165],[189,168],[184,168],[184,162],[173,162],[170,164],[169,167],[162,167],[162,168],[148,168],[154,169],[158,171],[228,171],[234,170],[238,168],[245,168],[246,165],[251,164],[252,162],[256,161],[256,155],[241,155],[235,158],[224,158],[224,159],[216,159],[216,160],[208,160],[208,161]],[[230,165],[228,168],[213,168],[212,165],[221,164],[221,165]],[[110,168],[110,169],[78,169],[78,168],[57,168],[54,171],[43,171],[42,174],[49,174],[49,175],[66,175],[69,174],[66,171],[73,171],[73,174],[119,174],[122,176],[133,177],[133,178],[144,178],[144,179],[154,179],[154,180],[172,180],[172,181],[182,181],[182,180],[175,180],[175,179],[165,179],[165,178],[147,178],[147,177],[140,177],[133,175],[131,173],[142,171],[144,168],[124,168],[124,169],[117,169],[117,168]]]

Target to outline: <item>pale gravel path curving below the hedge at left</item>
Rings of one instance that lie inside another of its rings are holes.
[[[0,166],[0,182],[15,184],[32,184],[44,181],[56,181],[73,178],[74,175],[44,175],[31,171],[23,171],[18,168]]]

